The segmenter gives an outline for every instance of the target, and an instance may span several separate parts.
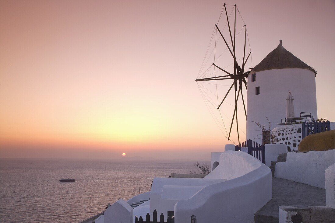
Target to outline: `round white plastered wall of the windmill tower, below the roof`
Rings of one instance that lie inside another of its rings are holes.
[[[248,75],[247,93],[247,139],[262,143],[255,139],[260,134],[259,122],[268,126],[265,117],[271,122],[271,130],[282,118],[286,118],[286,97],[291,91],[294,98],[294,114],[311,112],[317,119],[315,74],[307,69],[289,68],[273,69],[256,72],[256,81],[252,82],[253,72]],[[260,94],[256,95],[256,87],[260,87]],[[260,137],[261,138],[261,137]]]

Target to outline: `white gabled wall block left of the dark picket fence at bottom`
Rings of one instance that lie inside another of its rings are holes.
[[[104,223],[133,223],[133,208],[120,199],[104,212]]]

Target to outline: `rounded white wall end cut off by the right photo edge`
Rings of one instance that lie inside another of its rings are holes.
[[[325,171],[326,205],[335,208],[335,163]]]

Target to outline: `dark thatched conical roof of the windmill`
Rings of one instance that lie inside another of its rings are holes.
[[[257,72],[283,68],[302,68],[313,71],[315,75],[317,74],[316,70],[291,54],[291,52],[287,51],[281,42],[282,40],[279,41],[278,47],[269,53],[259,64],[257,64],[252,71]]]

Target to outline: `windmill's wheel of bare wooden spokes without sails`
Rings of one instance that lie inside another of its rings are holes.
[[[246,57],[246,38],[247,38],[247,30],[246,30],[246,24],[244,24],[244,52],[243,52],[243,61],[242,61],[242,66],[239,65],[238,60],[236,59],[236,10],[237,7],[236,5],[233,5],[233,10],[235,11],[234,15],[234,24],[233,27],[230,27],[229,24],[229,18],[228,18],[228,13],[227,13],[227,9],[226,9],[226,4],[223,4],[223,8],[222,11],[225,11],[226,14],[226,18],[227,18],[227,23],[228,24],[228,29],[229,29],[229,37],[228,39],[224,38],[223,34],[221,33],[219,27],[217,24],[215,24],[215,29],[219,32],[219,34],[221,35],[227,49],[230,52],[230,55],[232,57],[233,60],[233,65],[234,65],[234,72],[233,73],[229,73],[228,71],[224,70],[223,68],[221,68],[220,66],[218,66],[217,64],[215,64],[215,56],[214,56],[214,63],[212,64],[214,67],[218,68],[219,70],[223,71],[224,73],[226,73],[227,75],[222,75],[222,76],[214,76],[214,77],[206,77],[206,78],[200,78],[200,79],[196,79],[195,81],[217,81],[217,80],[233,80],[233,83],[231,84],[230,88],[228,89],[228,91],[226,92],[225,96],[223,97],[222,101],[220,104],[218,104],[217,109],[220,109],[223,101],[226,99],[226,97],[228,96],[230,90],[234,87],[235,90],[235,109],[232,115],[232,119],[231,119],[231,124],[230,124],[230,129],[229,129],[229,135],[228,135],[228,140],[230,138],[230,134],[231,134],[231,129],[232,129],[232,125],[234,122],[234,119],[236,119],[236,126],[237,126],[237,135],[238,135],[238,140],[239,140],[239,144],[240,144],[240,135],[239,135],[239,127],[238,127],[238,100],[240,98],[240,94],[241,94],[241,98],[242,98],[242,102],[243,102],[243,107],[244,107],[244,112],[245,112],[245,116],[247,118],[247,111],[246,111],[246,106],[245,106],[245,102],[244,102],[244,96],[243,96],[243,92],[242,92],[242,88],[243,86],[245,86],[245,89],[247,90],[247,81],[246,81],[246,77],[248,77],[248,72],[245,72],[245,65],[251,55],[251,52],[248,53],[247,57]],[[221,11],[221,14],[222,14]],[[238,10],[239,12],[239,10]],[[230,13],[231,14],[231,13]],[[240,14],[240,12],[239,12]],[[221,17],[221,15],[220,15]],[[230,16],[229,16],[230,17]],[[241,16],[242,18],[242,16]],[[219,18],[220,20],[220,18]],[[243,20],[243,18],[242,18]],[[244,22],[244,21],[243,21]],[[232,30],[233,28],[233,30]],[[240,32],[239,32],[240,33]],[[216,41],[216,40],[215,40]],[[228,42],[231,42],[231,44]],[[231,45],[231,46],[230,46]],[[250,44],[249,44],[250,46]],[[216,45],[215,45],[216,47]],[[206,53],[207,54],[207,53]]]

